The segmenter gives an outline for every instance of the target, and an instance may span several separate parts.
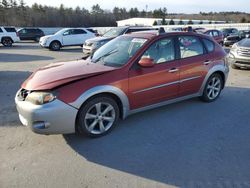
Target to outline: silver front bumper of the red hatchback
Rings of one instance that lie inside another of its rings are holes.
[[[15,98],[19,119],[38,134],[67,134],[75,132],[78,110],[56,99],[44,105],[35,105]]]

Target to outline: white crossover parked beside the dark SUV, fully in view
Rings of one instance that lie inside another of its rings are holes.
[[[41,37],[39,43],[44,48],[56,51],[64,46],[82,46],[87,39],[95,36],[88,28],[65,28],[54,35]]]

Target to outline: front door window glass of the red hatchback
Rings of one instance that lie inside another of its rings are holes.
[[[158,40],[144,52],[142,57],[153,59],[155,64],[174,60],[175,48],[173,39],[165,38]]]

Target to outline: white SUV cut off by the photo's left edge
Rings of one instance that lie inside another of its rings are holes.
[[[14,27],[0,27],[0,41],[4,46],[10,47],[14,42],[20,41],[20,38]]]

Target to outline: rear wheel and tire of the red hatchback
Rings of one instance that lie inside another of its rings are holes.
[[[215,79],[216,81],[219,82],[218,87],[216,86],[216,91],[215,91],[214,85],[213,85],[214,88],[211,88],[212,83],[213,83],[213,79]],[[207,83],[206,83],[204,90],[203,90],[203,94],[200,97],[200,99],[204,102],[215,101],[220,96],[221,90],[223,88],[223,84],[224,83],[223,83],[223,80],[222,80],[222,77],[220,74],[218,74],[218,73],[212,74],[207,80]],[[214,91],[212,91],[212,93],[210,93],[211,90],[214,90]],[[213,94],[215,94],[215,95],[213,96]]]

